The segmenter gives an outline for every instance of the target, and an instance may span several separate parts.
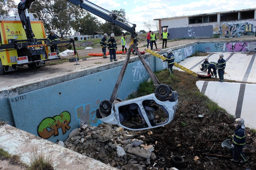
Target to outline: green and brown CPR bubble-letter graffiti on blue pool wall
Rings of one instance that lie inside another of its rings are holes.
[[[65,134],[66,130],[70,129],[69,123],[70,113],[67,111],[54,117],[47,117],[41,121],[40,125],[38,126],[38,135],[41,138],[48,139],[52,135],[57,136],[59,134],[59,128],[61,128],[62,133]]]

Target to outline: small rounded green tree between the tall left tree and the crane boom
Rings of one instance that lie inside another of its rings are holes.
[[[80,28],[79,32],[82,35],[91,35],[95,31],[99,31],[99,21],[97,17],[92,16],[90,13],[87,13],[82,19],[80,19]]]

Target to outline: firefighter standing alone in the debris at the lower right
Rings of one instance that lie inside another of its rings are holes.
[[[244,119],[237,118],[235,120],[236,130],[233,136],[233,143],[231,147],[233,148],[233,162],[238,162],[238,159],[242,159],[240,163],[245,163],[248,161],[242,149],[245,145],[245,121]]]

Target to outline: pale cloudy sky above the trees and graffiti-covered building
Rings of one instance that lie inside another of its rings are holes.
[[[89,0],[108,10],[124,9],[126,18],[137,25],[136,31],[147,30],[143,22],[175,16],[256,8],[256,0]],[[20,1],[15,0],[18,4]],[[103,19],[100,19],[103,23]],[[151,28],[151,30],[155,30]]]

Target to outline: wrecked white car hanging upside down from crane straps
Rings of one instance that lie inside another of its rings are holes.
[[[167,125],[178,108],[179,94],[171,86],[159,84],[155,93],[113,103],[103,100],[96,110],[99,120],[128,130],[146,130]]]

